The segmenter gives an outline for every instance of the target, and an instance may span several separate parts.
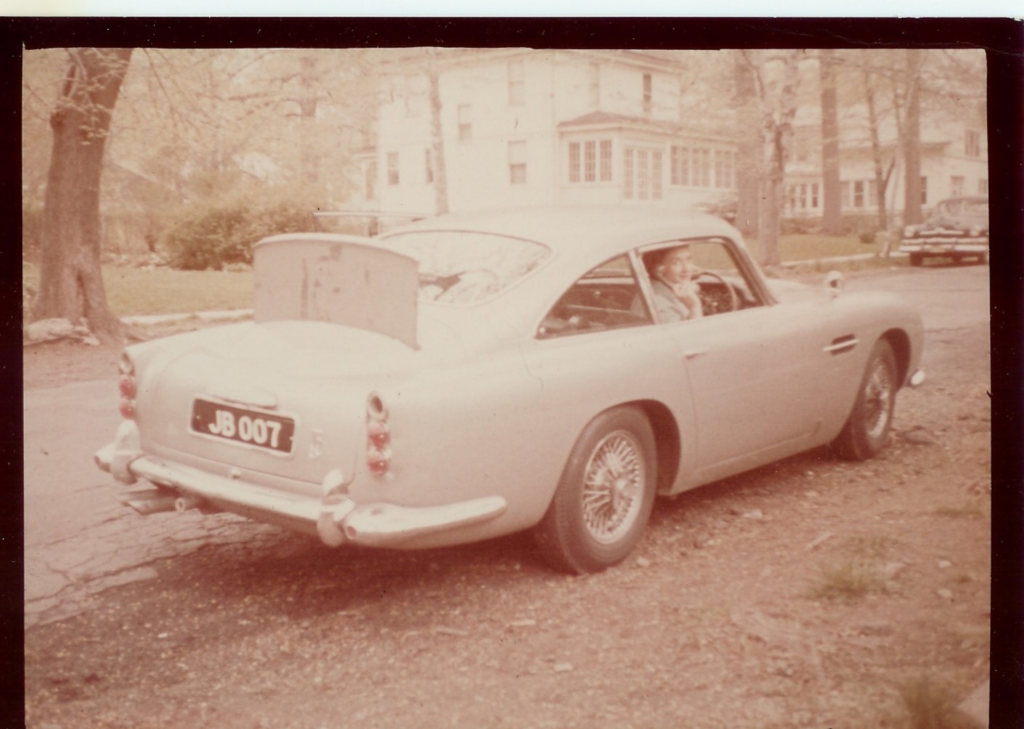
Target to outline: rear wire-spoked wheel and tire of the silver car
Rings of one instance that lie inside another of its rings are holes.
[[[577,574],[626,559],[654,505],[655,453],[650,423],[636,408],[615,408],[592,420],[535,528],[545,559]]]

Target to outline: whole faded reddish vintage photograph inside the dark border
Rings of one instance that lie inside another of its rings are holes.
[[[987,727],[987,75],[27,48],[26,726]]]

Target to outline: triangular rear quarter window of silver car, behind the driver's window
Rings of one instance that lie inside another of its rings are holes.
[[[569,287],[541,321],[541,339],[651,324],[629,256],[605,261]]]

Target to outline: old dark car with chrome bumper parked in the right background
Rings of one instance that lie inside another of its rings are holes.
[[[988,262],[988,198],[949,198],[935,206],[928,219],[903,228],[899,250],[910,256],[910,265],[926,258],[965,258]]]

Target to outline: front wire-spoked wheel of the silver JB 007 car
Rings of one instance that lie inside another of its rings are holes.
[[[898,385],[896,355],[889,342],[881,339],[867,358],[853,411],[833,443],[841,458],[866,461],[885,447],[892,427]]]

